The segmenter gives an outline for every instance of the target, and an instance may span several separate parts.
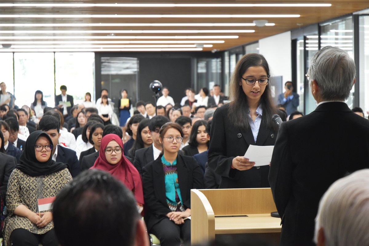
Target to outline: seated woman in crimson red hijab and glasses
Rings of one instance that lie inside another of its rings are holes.
[[[129,188],[137,200],[139,211],[142,211],[144,194],[142,179],[137,169],[123,155],[122,139],[116,134],[107,134],[101,139],[99,157],[91,169],[107,171]]]

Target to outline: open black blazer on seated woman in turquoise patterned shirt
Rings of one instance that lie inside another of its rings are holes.
[[[145,222],[148,231],[153,225],[166,218],[166,214],[172,212],[166,203],[165,174],[161,157],[162,155],[143,168]],[[200,166],[193,157],[178,155],[177,174],[183,206],[191,208],[190,190],[201,189],[204,186]]]

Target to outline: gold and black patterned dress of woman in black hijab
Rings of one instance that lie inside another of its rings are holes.
[[[31,211],[38,212],[37,199],[54,197],[70,181],[72,176],[68,169],[37,177],[28,176],[17,168],[13,170],[8,182],[6,195],[8,216],[3,229],[7,246],[11,245],[10,235],[15,229],[23,228],[35,234],[43,234],[54,228],[53,221],[43,228],[38,228],[28,218],[15,215],[14,210],[19,205],[25,205]]]

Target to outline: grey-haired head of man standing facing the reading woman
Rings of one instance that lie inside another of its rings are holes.
[[[307,74],[319,86],[323,100],[346,100],[356,75],[355,62],[342,49],[325,46],[311,59]]]

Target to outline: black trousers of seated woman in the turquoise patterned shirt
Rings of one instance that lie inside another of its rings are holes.
[[[164,218],[152,226],[150,233],[160,240],[161,246],[178,246],[181,244],[181,238],[184,244],[189,244],[191,241],[191,220],[186,219],[184,224],[176,225],[169,218]]]

